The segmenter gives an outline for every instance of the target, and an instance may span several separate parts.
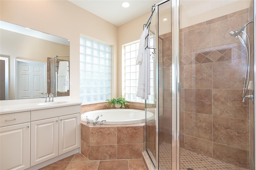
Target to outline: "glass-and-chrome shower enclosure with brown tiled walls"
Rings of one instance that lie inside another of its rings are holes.
[[[156,118],[146,120],[152,164],[254,170],[254,1],[165,0],[153,8],[145,22],[156,48]]]

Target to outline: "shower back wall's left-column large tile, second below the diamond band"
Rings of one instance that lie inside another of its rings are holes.
[[[212,89],[184,89],[184,111],[212,115]]]

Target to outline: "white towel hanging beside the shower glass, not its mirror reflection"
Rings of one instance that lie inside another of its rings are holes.
[[[148,35],[148,27],[145,27],[140,37],[140,44],[136,64],[139,65],[138,89],[137,97],[148,99],[150,95],[150,38]],[[146,48],[146,49],[145,49]]]

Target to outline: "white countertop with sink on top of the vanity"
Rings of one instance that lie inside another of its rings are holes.
[[[12,101],[0,101],[0,115],[7,113],[16,113],[24,111],[33,111],[40,109],[50,109],[55,107],[64,107],[72,105],[81,105],[79,101],[70,101],[69,98],[54,98],[54,102],[44,104],[44,99],[20,99]]]

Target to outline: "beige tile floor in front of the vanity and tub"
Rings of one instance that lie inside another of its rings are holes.
[[[77,153],[40,170],[146,170],[142,159],[90,161]]]

